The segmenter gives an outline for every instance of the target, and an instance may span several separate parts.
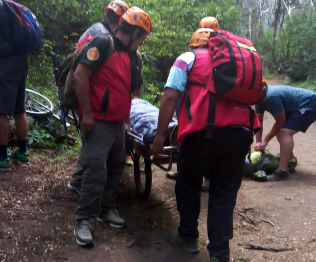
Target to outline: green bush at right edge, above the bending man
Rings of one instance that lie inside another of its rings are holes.
[[[269,30],[256,41],[263,65],[287,74],[291,81],[316,79],[316,16],[297,13],[287,19],[277,39]]]

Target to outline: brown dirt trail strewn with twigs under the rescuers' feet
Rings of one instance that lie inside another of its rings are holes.
[[[265,117],[267,132],[273,124]],[[287,181],[244,180],[235,211],[231,259],[234,262],[316,262],[316,124],[295,136],[296,173]],[[279,151],[273,139],[268,149]],[[205,244],[207,194],[202,194],[200,248],[189,255],[166,241],[169,229],[179,223],[174,181],[158,168],[148,201],[135,196],[133,168],[122,177],[118,205],[128,228],[114,230],[93,223],[93,248],[79,247],[73,237],[77,196],[67,191],[76,156],[68,163],[55,151],[33,151],[28,168],[14,166],[0,173],[0,262],[208,262]],[[53,159],[54,160],[50,160]],[[175,167],[174,167],[175,168]],[[153,204],[165,201],[150,208]],[[265,220],[266,222],[263,222]],[[271,222],[274,226],[272,226]],[[314,241],[313,241],[314,238]],[[291,251],[248,250],[245,243],[293,247]]]

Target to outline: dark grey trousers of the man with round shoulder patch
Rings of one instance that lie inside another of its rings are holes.
[[[93,132],[82,132],[78,168],[82,168],[76,220],[98,217],[116,207],[116,188],[125,164],[124,122],[95,121]]]

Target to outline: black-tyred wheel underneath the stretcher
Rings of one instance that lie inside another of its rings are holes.
[[[152,189],[152,165],[149,158],[134,156],[134,179],[136,194],[141,199],[148,199]]]

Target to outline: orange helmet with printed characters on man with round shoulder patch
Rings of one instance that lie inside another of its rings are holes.
[[[152,20],[149,16],[139,7],[133,6],[126,11],[126,13],[122,16],[127,23],[135,26],[139,26],[143,28],[147,35],[150,35],[152,30]]]

